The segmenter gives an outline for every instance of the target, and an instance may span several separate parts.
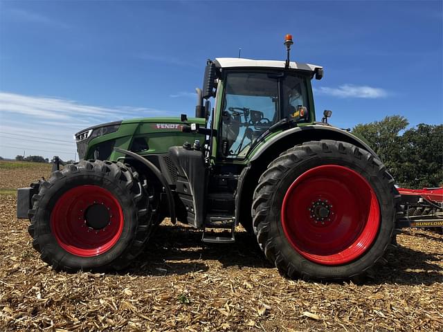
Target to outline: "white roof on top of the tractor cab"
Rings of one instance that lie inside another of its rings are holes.
[[[243,59],[241,57],[217,57],[215,64],[220,68],[235,67],[266,67],[266,68],[284,68],[284,61],[281,60],[254,60]],[[302,64],[300,62],[291,61],[289,68],[302,71],[315,71],[316,68],[323,68],[316,64]]]

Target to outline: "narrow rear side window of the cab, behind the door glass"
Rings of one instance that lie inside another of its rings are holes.
[[[302,77],[287,75],[282,82],[282,90],[283,117],[293,114],[299,106],[308,107],[306,82]]]

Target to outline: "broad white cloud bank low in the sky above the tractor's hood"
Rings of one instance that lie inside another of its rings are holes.
[[[73,159],[73,134],[81,129],[123,118],[173,115],[149,107],[100,107],[62,98],[0,92],[0,156],[14,158],[26,150],[27,154]]]

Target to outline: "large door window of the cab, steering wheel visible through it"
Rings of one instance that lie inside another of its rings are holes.
[[[278,81],[266,73],[230,73],[221,111],[219,151],[245,158],[253,142],[278,119]]]

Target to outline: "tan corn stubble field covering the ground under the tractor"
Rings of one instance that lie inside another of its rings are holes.
[[[288,280],[239,230],[233,245],[163,222],[120,273],[56,273],[15,218],[50,165],[0,162],[0,331],[443,331],[443,236],[407,230],[364,284]]]

